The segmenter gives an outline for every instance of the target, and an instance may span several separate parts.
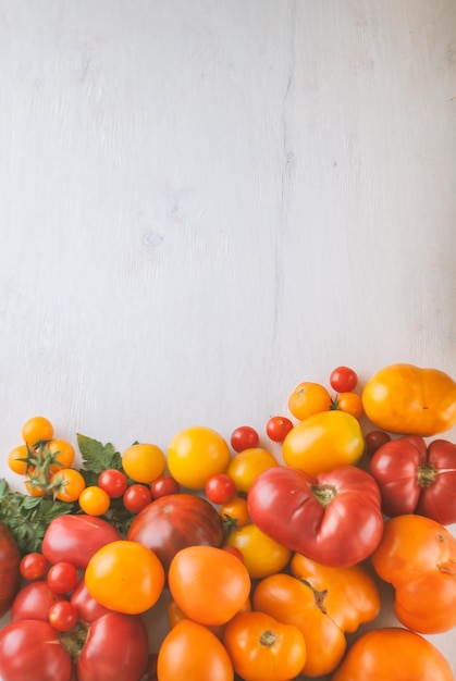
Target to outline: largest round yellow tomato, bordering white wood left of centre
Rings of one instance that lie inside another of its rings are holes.
[[[170,473],[188,490],[204,490],[208,478],[225,471],[229,460],[226,442],[219,433],[204,425],[181,431],[168,447]]]

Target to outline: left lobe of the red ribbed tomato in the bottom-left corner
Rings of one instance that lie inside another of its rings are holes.
[[[49,622],[21,620],[0,630],[2,681],[71,681],[72,667]]]

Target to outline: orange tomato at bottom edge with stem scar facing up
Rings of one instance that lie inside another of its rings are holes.
[[[289,681],[306,661],[306,642],[293,624],[264,612],[244,612],[229,622],[223,642],[245,681]]]

